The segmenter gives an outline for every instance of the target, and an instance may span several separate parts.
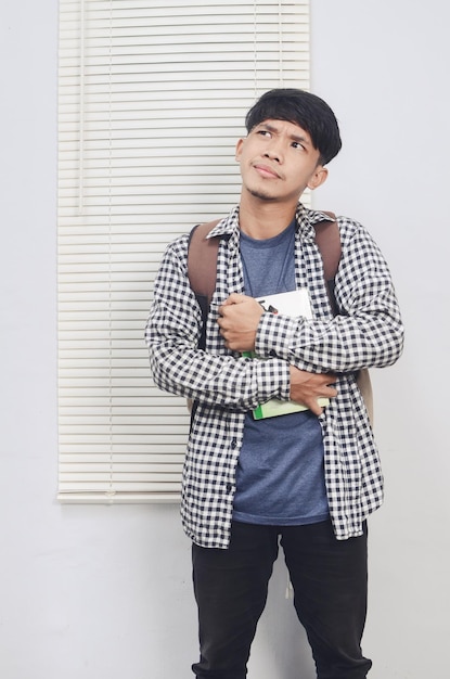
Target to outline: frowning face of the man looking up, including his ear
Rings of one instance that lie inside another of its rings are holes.
[[[286,120],[260,123],[236,146],[243,189],[262,201],[298,201],[307,187],[323,183],[319,156],[309,133]]]

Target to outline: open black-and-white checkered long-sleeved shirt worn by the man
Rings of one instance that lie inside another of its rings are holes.
[[[335,296],[340,312],[334,317],[313,230],[329,218],[299,204],[296,219],[296,284],[308,289],[313,319],[263,313],[255,349],[267,360],[228,350],[216,322],[220,304],[244,290],[237,207],[210,233],[223,238],[206,351],[197,348],[201,312],[187,278],[188,234],[167,247],[156,277],[145,340],[157,386],[198,401],[181,515],[188,536],[203,547],[228,547],[245,413],[273,397],[288,399],[290,363],[337,374],[338,395],[319,418],[336,538],[361,535],[362,522],[383,501],[378,453],[355,371],[390,366],[401,354],[403,328],[389,270],[368,231],[339,217],[343,256]]]

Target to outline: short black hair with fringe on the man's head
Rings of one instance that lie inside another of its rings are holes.
[[[340,151],[342,141],[336,116],[323,99],[311,92],[295,88],[269,90],[245,116],[247,132],[269,119],[287,120],[307,131],[314,149],[320,153],[321,165],[330,163]]]

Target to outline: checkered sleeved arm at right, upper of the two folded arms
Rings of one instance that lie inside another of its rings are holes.
[[[342,238],[335,281],[340,313],[312,320],[265,313],[256,335],[258,355],[275,355],[312,372],[383,368],[398,359],[403,326],[386,261],[360,225],[345,222]]]

